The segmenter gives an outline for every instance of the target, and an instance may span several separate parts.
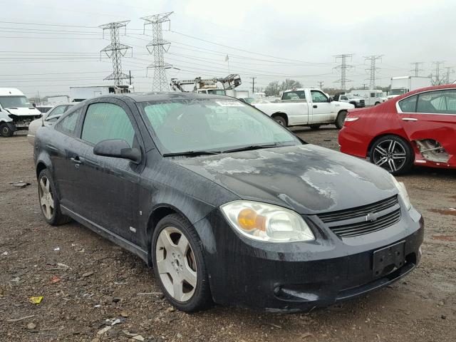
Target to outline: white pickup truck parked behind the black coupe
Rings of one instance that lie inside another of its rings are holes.
[[[285,90],[279,102],[256,103],[256,108],[284,126],[309,126],[336,124],[342,128],[347,110],[355,108],[350,103],[333,101],[320,89],[300,88]]]

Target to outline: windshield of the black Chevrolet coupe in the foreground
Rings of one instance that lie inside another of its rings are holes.
[[[138,103],[138,107],[162,154],[301,145],[286,128],[238,100],[165,100]]]

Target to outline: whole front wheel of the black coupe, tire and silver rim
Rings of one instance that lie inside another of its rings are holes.
[[[173,306],[192,312],[212,304],[201,242],[187,219],[179,214],[161,219],[152,234],[151,253],[155,278]]]

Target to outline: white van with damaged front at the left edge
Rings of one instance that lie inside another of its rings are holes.
[[[16,88],[0,88],[0,135],[11,137],[16,130],[27,130],[28,124],[41,118],[41,112]]]

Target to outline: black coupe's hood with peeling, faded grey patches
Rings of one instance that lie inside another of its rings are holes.
[[[278,204],[300,214],[358,207],[398,193],[382,168],[316,145],[172,161],[242,199]]]

